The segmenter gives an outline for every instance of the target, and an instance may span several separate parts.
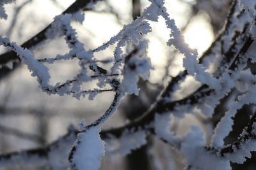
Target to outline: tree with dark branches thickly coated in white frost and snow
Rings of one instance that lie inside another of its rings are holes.
[[[1,19],[8,17],[4,4],[12,2],[0,2]],[[102,2],[75,1],[54,17],[49,26],[22,45],[0,35],[0,45],[10,50],[0,55],[3,71],[0,76],[8,74],[21,62],[36,78],[42,91],[49,95],[93,100],[102,93],[114,93],[106,111],[90,124],[81,120],[79,128],[71,127],[67,134],[45,147],[4,153],[0,155],[0,168],[48,164],[51,169],[99,169],[102,157],[127,155],[146,145],[152,136],[182,155],[186,169],[232,169],[231,163],[243,164],[250,159],[251,152],[256,150],[256,90],[253,91],[256,83],[253,69],[256,61],[256,1],[186,2],[194,10],[207,10],[215,29],[219,29],[227,6],[230,6],[223,28],[202,55],[184,41],[172,11],[163,0],[149,0],[140,16],[123,25],[115,36],[96,48],[88,47],[79,38],[74,22],[83,23],[83,11],[95,10],[99,3]],[[138,82],[148,80],[150,71],[157,69],[148,57],[148,34],[154,31],[154,23],[161,20],[169,31],[165,48],[179,53],[183,69],[175,76],[165,77],[168,83],[160,88],[159,96],[140,117],[120,127],[102,130],[102,126],[115,117],[113,114],[122,98],[138,96],[140,89],[143,90]],[[31,52],[45,41],[60,37],[65,38],[67,53],[38,59]],[[97,58],[97,53],[104,55],[109,48],[113,48],[111,57]],[[52,83],[49,67],[61,60],[74,60],[79,70],[73,78]],[[186,95],[178,98],[177,94],[182,93],[189,78],[193,78],[194,83],[187,87]],[[85,88],[89,83],[95,83],[93,89]],[[234,118],[244,106],[250,106],[250,113],[243,114],[243,117],[250,115],[247,125],[236,140],[227,143],[225,139],[232,127],[236,127]],[[199,123],[180,134],[177,130],[179,122],[186,123],[189,115],[197,118]],[[173,162],[175,157],[168,159],[166,161]],[[164,169],[161,161],[154,160],[158,169]]]

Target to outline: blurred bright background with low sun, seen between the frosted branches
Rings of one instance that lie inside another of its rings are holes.
[[[72,0],[17,0],[4,6],[8,19],[0,20],[0,34],[22,44],[49,25],[56,15],[60,15],[72,3]],[[166,8],[184,34],[186,43],[202,55],[221,30],[230,3],[230,0],[168,0]],[[76,28],[77,36],[86,49],[93,49],[140,16],[148,4],[147,0],[105,0],[97,3],[94,10],[84,11],[83,24],[72,22],[72,26]],[[153,31],[146,38],[149,42],[148,56],[154,70],[148,81],[139,81],[140,95],[126,96],[104,129],[118,127],[139,117],[155,101],[170,78],[183,69],[182,55],[166,45],[170,31],[166,29],[163,18],[150,24]],[[64,38],[60,37],[44,41],[31,50],[41,59],[67,53],[68,47]],[[96,53],[97,59],[108,59],[113,56],[113,50],[114,46],[111,46],[104,52]],[[6,48],[1,47],[0,53],[4,52]],[[52,84],[70,79],[79,71],[77,60],[61,60],[47,66]],[[13,65],[8,63],[1,67],[12,69]],[[188,94],[188,85],[196,86],[196,82],[188,79],[183,85],[184,90],[176,94],[176,99]],[[94,87],[93,82],[88,84],[88,89]],[[76,126],[83,118],[88,124],[95,120],[106,110],[112,98],[112,92],[99,94],[93,101],[86,97],[77,100],[71,96],[48,96],[38,88],[26,66],[19,66],[10,74],[1,75],[0,79],[0,153],[45,146],[65,134],[71,124]],[[186,119],[189,124],[179,125],[182,126],[180,133],[185,132],[191,124],[200,124],[193,115]],[[146,146],[125,157],[104,158],[101,169],[183,169],[182,157],[175,150],[154,137],[148,141]],[[19,166],[17,169],[28,167]]]

